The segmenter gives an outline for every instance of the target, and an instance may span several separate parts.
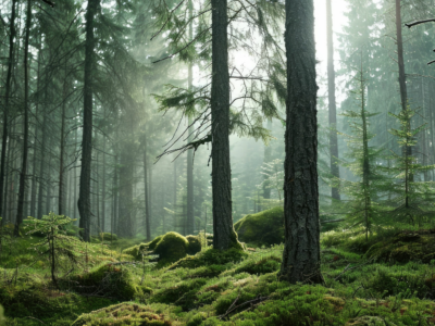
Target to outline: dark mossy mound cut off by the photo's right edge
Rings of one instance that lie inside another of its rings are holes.
[[[403,231],[373,244],[365,253],[365,258],[377,262],[430,263],[435,260],[435,235]]]

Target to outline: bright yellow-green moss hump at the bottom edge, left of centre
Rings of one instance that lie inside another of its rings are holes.
[[[80,315],[72,326],[170,326],[162,314],[136,303],[121,303]]]

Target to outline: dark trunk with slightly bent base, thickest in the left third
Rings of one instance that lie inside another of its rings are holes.
[[[99,0],[88,0],[86,11],[85,86],[83,111],[82,168],[78,192],[78,212],[83,239],[90,240],[90,165],[92,162],[92,76],[94,76],[94,18]]]

